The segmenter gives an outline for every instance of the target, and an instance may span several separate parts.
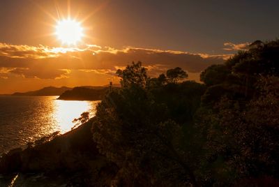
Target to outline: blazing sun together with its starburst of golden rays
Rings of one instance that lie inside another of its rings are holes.
[[[61,41],[60,47],[70,47],[70,46],[82,46],[84,45],[84,40],[88,39],[88,42],[96,42],[97,38],[94,38],[93,36],[88,36],[88,33],[93,30],[93,27],[84,27],[83,24],[89,18],[93,17],[94,14],[102,10],[109,1],[103,1],[99,6],[96,6],[91,13],[84,15],[83,17],[80,17],[80,13],[82,13],[82,10],[80,8],[75,7],[75,13],[73,14],[73,7],[70,0],[66,1],[66,9],[63,9],[64,12],[61,9],[61,1],[54,0],[54,12],[50,13],[43,8],[43,6],[40,6],[38,2],[33,1],[40,10],[45,13],[48,17],[50,17],[54,22],[42,22],[43,24],[53,27],[54,31],[52,33],[45,33],[43,35],[37,36],[37,38],[40,37],[49,37],[49,36],[56,36],[58,40]],[[84,40],[83,40],[84,39]],[[57,45],[57,40],[53,40],[53,45]]]

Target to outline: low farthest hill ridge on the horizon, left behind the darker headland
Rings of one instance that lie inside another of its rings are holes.
[[[69,87],[45,87],[36,91],[27,91],[24,93],[15,92],[12,96],[60,96],[63,92],[71,90]]]

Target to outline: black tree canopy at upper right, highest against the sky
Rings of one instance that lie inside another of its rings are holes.
[[[224,64],[212,65],[201,73],[208,87],[220,84],[224,90],[250,100],[261,76],[279,75],[279,40],[262,43],[257,40],[250,49],[240,51]],[[213,96],[214,97],[214,96]],[[234,99],[236,99],[234,98]]]

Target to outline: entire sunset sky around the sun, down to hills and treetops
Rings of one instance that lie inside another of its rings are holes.
[[[117,83],[118,68],[142,61],[149,75],[179,66],[189,80],[255,40],[279,36],[279,1],[1,0],[0,93]],[[55,36],[70,17],[76,45]]]

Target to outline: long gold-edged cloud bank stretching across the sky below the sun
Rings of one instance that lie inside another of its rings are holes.
[[[63,48],[0,43],[0,77],[8,78],[13,74],[42,80],[63,79],[69,77],[72,70],[115,76],[117,68],[132,61],[142,61],[152,76],[177,66],[188,73],[200,73],[211,64],[223,63],[228,57],[139,47],[115,49],[84,45]]]

